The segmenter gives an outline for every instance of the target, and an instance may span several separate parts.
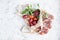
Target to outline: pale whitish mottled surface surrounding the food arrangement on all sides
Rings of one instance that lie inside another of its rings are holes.
[[[0,0],[0,40],[60,40],[60,0]],[[18,16],[17,7],[21,4],[40,3],[40,8],[52,13],[55,19],[47,35],[23,34],[20,28],[24,20]]]

